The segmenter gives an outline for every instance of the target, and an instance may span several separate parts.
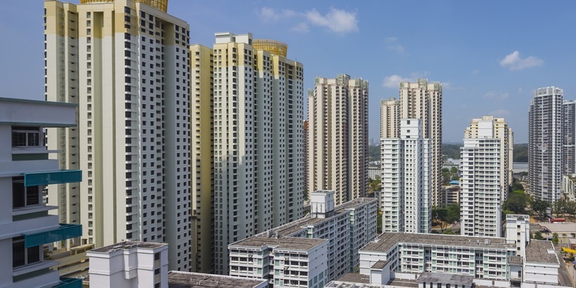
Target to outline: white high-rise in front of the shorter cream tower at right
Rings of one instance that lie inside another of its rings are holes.
[[[486,118],[475,119],[473,138],[465,138],[460,148],[460,233],[464,236],[502,235],[502,190],[508,183],[502,181],[501,165],[502,152],[507,154],[508,149],[502,149],[503,141],[495,135],[495,122]]]

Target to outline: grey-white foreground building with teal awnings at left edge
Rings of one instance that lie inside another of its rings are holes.
[[[77,104],[0,98],[0,287],[81,287],[60,279],[58,261],[44,244],[79,239],[79,224],[60,222],[45,191],[82,181],[79,170],[63,170],[46,149],[44,127],[76,126]],[[77,200],[77,199],[76,199]],[[78,241],[73,241],[78,243]]]

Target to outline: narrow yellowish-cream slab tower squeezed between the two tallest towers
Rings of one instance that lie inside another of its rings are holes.
[[[214,272],[214,50],[190,46],[192,271]]]

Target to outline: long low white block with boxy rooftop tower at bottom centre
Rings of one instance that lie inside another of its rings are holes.
[[[335,207],[334,191],[312,192],[310,198],[308,216],[230,244],[230,275],[270,279],[275,287],[316,287],[321,281],[326,284],[353,271],[360,261],[358,250],[376,237],[377,199],[359,198]],[[294,261],[308,258],[308,266],[287,263],[286,258],[278,258],[276,249],[290,261],[292,257],[296,257]],[[297,251],[297,255],[284,251]],[[315,257],[325,260],[317,263]],[[308,275],[302,273],[306,270]],[[306,283],[291,282],[287,277]]]

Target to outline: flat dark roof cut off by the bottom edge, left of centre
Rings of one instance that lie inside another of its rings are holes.
[[[268,287],[268,280],[252,280],[243,277],[213,275],[204,273],[190,273],[181,271],[168,272],[169,288],[256,288]]]

